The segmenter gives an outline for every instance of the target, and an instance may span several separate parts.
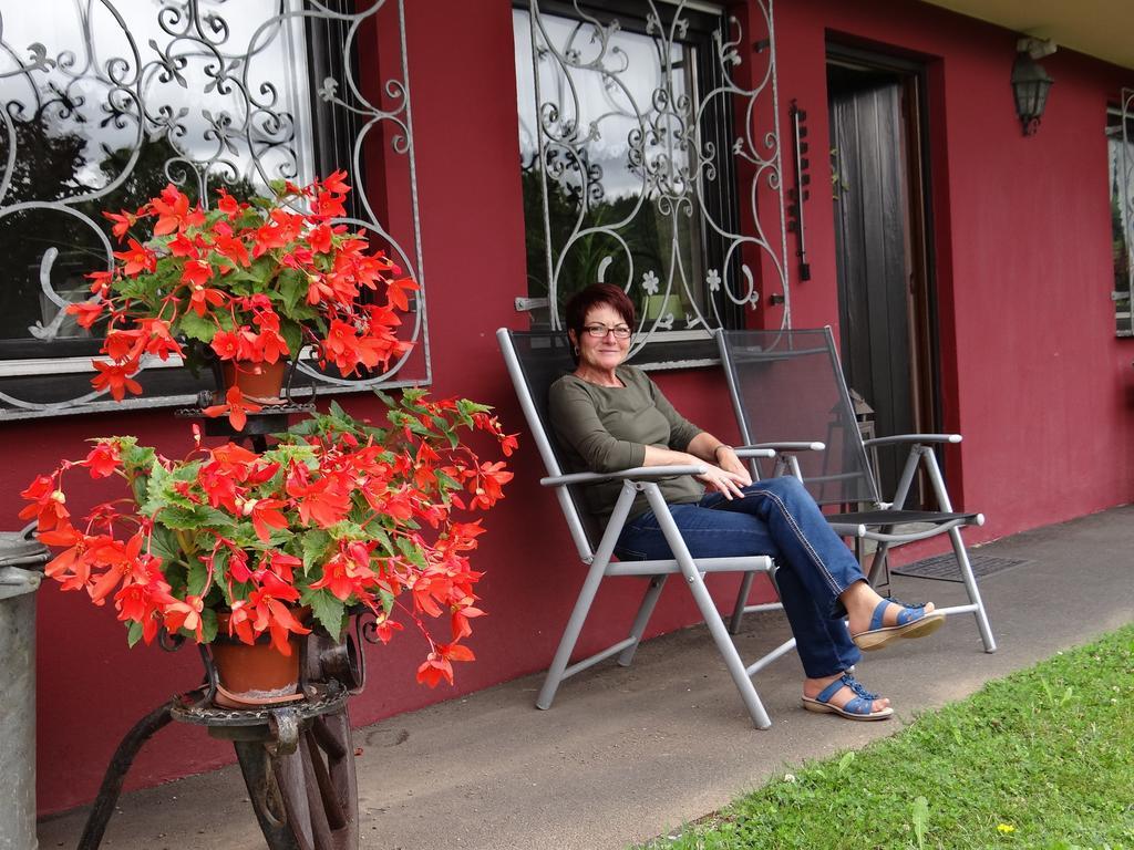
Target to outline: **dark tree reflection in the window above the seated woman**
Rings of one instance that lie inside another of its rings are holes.
[[[651,295],[665,295],[666,281],[670,275],[674,222],[677,222],[678,250],[687,280],[696,281],[699,269],[694,265],[692,240],[695,238],[691,216],[679,210],[665,214],[657,198],[626,194],[608,198],[602,187],[602,171],[598,165],[587,168],[587,193],[584,201],[582,168],[573,158],[567,158],[553,148],[545,150],[548,163],[548,222],[551,238],[552,270],[562,261],[557,280],[560,304],[570,295],[599,279],[603,263],[603,280],[625,287],[632,286],[628,295],[640,312],[646,308]],[[556,179],[558,176],[559,179]],[[543,229],[543,187],[538,158],[521,163],[521,180],[524,193],[524,222],[527,247],[527,291],[532,297],[547,297],[549,292],[549,270],[547,260],[547,236]],[[635,209],[637,212],[635,213]],[[570,241],[576,232],[579,210],[582,221],[577,232],[599,229]],[[626,223],[621,223],[621,222]],[[617,237],[615,236],[617,233]],[[621,241],[619,241],[619,239]],[[566,254],[564,253],[566,249]],[[648,273],[659,281],[655,291],[642,286]],[[633,279],[631,275],[635,275]],[[674,270],[674,290],[670,295],[688,301],[680,286],[680,274]],[[670,307],[671,309],[672,307]],[[561,313],[560,313],[561,314]],[[675,318],[680,320],[677,315]]]

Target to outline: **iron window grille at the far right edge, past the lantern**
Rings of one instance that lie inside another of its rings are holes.
[[[1114,240],[1115,331],[1134,337],[1134,88],[1124,88],[1120,124],[1108,131]]]

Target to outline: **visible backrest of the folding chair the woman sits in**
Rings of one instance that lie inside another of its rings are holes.
[[[501,328],[497,331],[497,340],[548,475],[581,471],[564,468],[548,413],[551,384],[575,369],[566,334],[558,331],[509,331]],[[557,492],[579,558],[590,561],[594,556],[602,529],[587,511],[582,493],[577,490],[567,487],[565,493],[560,487]]]

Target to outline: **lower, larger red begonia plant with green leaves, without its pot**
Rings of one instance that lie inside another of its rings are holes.
[[[431,401],[406,390],[387,405],[382,427],[337,405],[278,435],[262,454],[234,443],[196,447],[170,460],[134,437],[93,441],[86,458],[65,461],[23,492],[22,517],[62,549],[46,575],[66,590],[110,601],[130,645],[164,628],[198,643],[217,635],[217,612],[245,643],[268,632],[289,654],[288,636],[306,634],[296,615],[339,638],[350,613],[369,609],[381,639],[398,614],[429,641],[417,680],[452,681],[452,662],[472,661],[474,586],[468,553],[484,530],[458,515],[491,508],[511,478],[484,462],[462,432],[485,432],[503,454],[516,445],[483,405]],[[67,508],[65,477],[122,478],[128,495],[94,507],[83,521]],[[448,640],[425,617],[447,617]]]

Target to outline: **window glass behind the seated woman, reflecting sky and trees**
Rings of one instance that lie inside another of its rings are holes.
[[[527,294],[561,307],[601,280],[634,299],[637,330],[703,326],[708,35],[618,24],[514,12]],[[533,323],[556,323],[552,305]]]

